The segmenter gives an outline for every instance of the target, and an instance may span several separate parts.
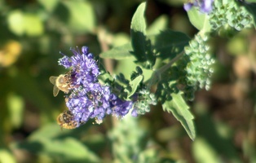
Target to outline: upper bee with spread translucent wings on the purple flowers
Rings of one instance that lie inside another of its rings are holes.
[[[49,78],[51,84],[53,84],[53,96],[57,96],[59,94],[59,91],[62,90],[64,93],[68,94],[69,88],[70,88],[70,82],[71,82],[71,74],[65,73],[60,74],[59,77],[53,77],[51,76]]]

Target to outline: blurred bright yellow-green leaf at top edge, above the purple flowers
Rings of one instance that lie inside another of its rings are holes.
[[[90,2],[61,1],[70,12],[68,26],[74,33],[92,32],[95,29],[95,13]]]

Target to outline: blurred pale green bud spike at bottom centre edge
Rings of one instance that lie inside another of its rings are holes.
[[[139,126],[138,118],[132,117],[130,114],[123,117],[117,126],[108,131],[108,139],[110,139],[113,147],[114,161],[112,162],[159,162],[145,161],[139,158],[147,143],[145,142],[147,135],[146,130]]]

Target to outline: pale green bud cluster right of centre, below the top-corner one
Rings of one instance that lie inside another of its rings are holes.
[[[210,77],[214,73],[211,65],[214,64],[214,59],[209,54],[209,46],[206,45],[207,37],[196,37],[189,42],[189,46],[185,47],[184,59],[188,64],[185,68],[187,73],[184,80],[184,93],[189,100],[194,98],[194,92],[198,88],[210,89]]]

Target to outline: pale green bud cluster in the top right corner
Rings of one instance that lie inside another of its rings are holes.
[[[210,12],[212,29],[242,29],[251,27],[253,19],[245,7],[238,6],[233,0],[215,0],[213,11]]]

